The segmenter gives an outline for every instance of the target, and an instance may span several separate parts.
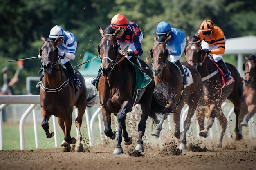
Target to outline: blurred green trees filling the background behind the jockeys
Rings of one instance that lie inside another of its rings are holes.
[[[252,0],[0,0],[0,69],[8,65],[14,74],[16,62],[6,60],[37,56],[41,36],[47,38],[56,24],[76,35],[76,59],[71,62],[80,64],[85,51],[97,55],[99,27],[105,29],[117,13],[140,26],[144,60],[153,47],[156,26],[163,20],[186,35],[193,35],[206,19],[220,26],[226,38],[256,35],[256,6]],[[235,63],[236,57],[229,60]],[[24,61],[20,80],[14,85],[16,95],[25,93],[27,76],[40,76],[40,65],[39,59]]]

